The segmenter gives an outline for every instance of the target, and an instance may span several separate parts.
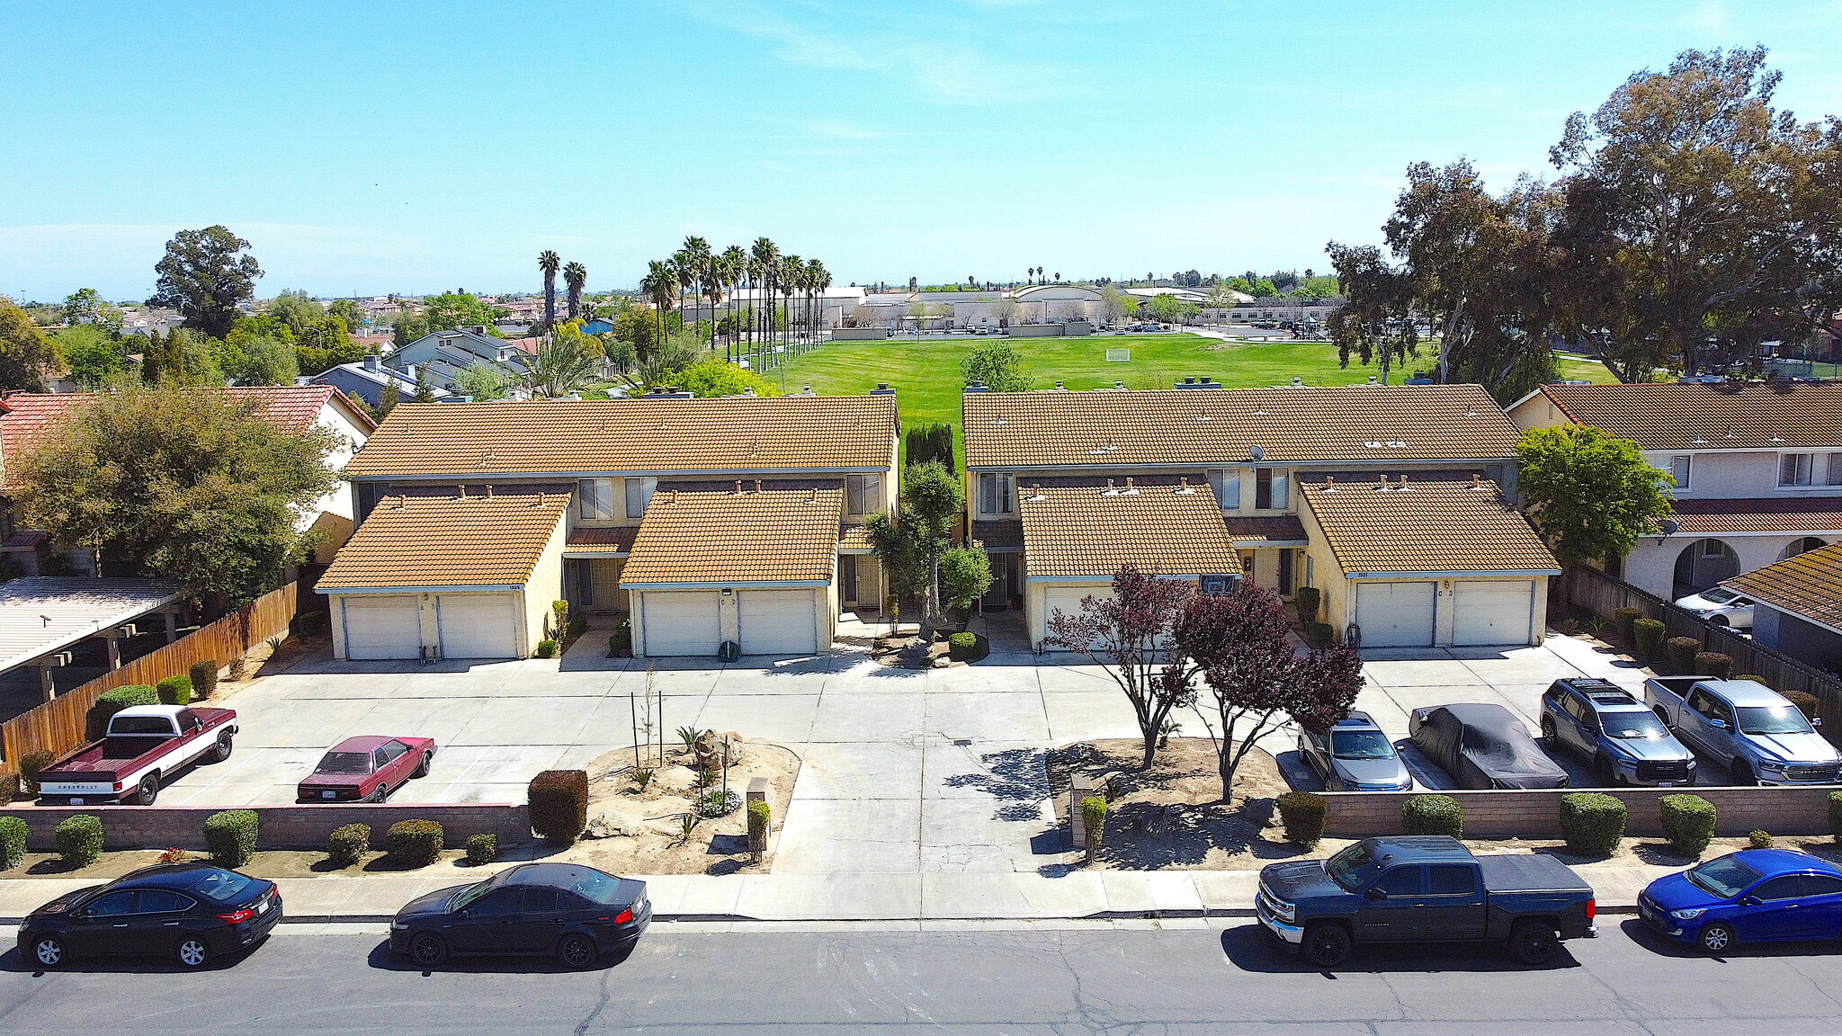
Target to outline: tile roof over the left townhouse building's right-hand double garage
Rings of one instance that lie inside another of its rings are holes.
[[[661,487],[647,505],[621,584],[831,583],[844,490]]]

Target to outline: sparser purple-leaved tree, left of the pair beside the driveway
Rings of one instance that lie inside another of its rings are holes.
[[[1164,645],[1194,595],[1192,583],[1159,579],[1127,564],[1113,575],[1113,597],[1083,597],[1079,612],[1070,616],[1055,608],[1048,618],[1043,643],[1085,654],[1133,702],[1133,717],[1144,739],[1138,769],[1151,767],[1172,710],[1195,702],[1188,675],[1173,665],[1175,656]]]

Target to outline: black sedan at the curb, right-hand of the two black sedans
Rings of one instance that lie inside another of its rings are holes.
[[[391,949],[424,968],[449,955],[556,955],[589,968],[639,940],[652,920],[647,883],[573,863],[525,863],[396,911]]]

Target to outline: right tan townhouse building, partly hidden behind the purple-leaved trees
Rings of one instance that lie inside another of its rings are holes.
[[[1370,647],[1542,640],[1558,566],[1505,500],[1518,431],[1477,385],[973,391],[963,413],[984,606],[1024,608],[1039,647],[1125,560],[1315,586]]]

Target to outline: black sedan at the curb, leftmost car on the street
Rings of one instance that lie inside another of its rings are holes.
[[[18,925],[18,955],[39,968],[105,955],[203,968],[254,946],[280,920],[273,881],[204,863],[147,866],[33,911]]]

